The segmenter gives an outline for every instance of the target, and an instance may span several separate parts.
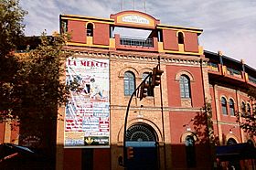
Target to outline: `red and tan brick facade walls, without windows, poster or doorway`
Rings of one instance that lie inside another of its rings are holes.
[[[130,13],[148,18],[150,26],[122,23],[121,16],[129,16]],[[228,115],[222,114],[220,102],[221,97],[225,97],[227,101],[233,99],[235,111],[238,112],[241,101],[251,103],[240,86],[232,85],[246,83],[243,80],[246,76],[232,79],[232,75],[226,75],[224,66],[218,65],[214,70],[207,67],[208,57],[202,54],[197,42],[202,30],[160,25],[160,21],[154,17],[134,11],[113,15],[112,19],[85,16],[63,16],[63,19],[68,20],[68,32],[71,35],[66,48],[74,52],[74,57],[105,58],[110,61],[111,133],[109,146],[64,148],[65,108],[59,108],[62,120],[58,121],[57,134],[50,134],[52,140],[56,136],[56,169],[123,169],[118,164],[118,159],[123,156],[123,124],[130,100],[130,96],[124,95],[124,73],[133,72],[137,87],[142,82],[143,73],[152,72],[159,62],[160,69],[164,70],[161,86],[155,87],[154,96],[147,96],[142,101],[133,97],[127,122],[127,128],[133,124],[146,124],[153,129],[158,147],[159,169],[188,168],[185,145],[187,136],[192,136],[195,140],[194,168],[212,167],[213,157],[209,154],[212,153],[212,148],[208,143],[208,133],[211,130],[207,116],[212,116],[217,144],[225,145],[229,138],[235,139],[237,143],[251,139],[240,130],[237,118],[229,114],[229,107]],[[86,35],[89,23],[93,24],[93,37]],[[154,37],[154,47],[151,48],[123,46],[119,35],[110,38],[110,28],[114,26],[161,30],[163,42]],[[178,44],[178,32],[184,34],[183,45]],[[187,75],[189,79],[191,95],[187,99],[180,96],[181,75]],[[212,115],[205,111],[208,103],[211,103]],[[18,143],[20,139],[17,132],[18,129],[11,130],[10,122],[1,122],[0,143]],[[46,133],[44,135],[47,136]]]

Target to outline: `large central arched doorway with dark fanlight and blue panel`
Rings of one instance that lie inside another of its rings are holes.
[[[147,124],[133,124],[126,133],[126,146],[133,147],[133,157],[127,160],[127,169],[157,170],[157,137]]]

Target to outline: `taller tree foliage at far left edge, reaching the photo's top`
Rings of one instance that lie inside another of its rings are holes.
[[[16,0],[0,0],[0,121],[11,117],[14,76],[20,69],[14,56],[16,45],[24,36],[23,19],[27,14]]]

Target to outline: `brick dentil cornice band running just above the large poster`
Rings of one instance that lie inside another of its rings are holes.
[[[79,48],[66,47],[65,49],[72,51],[74,57],[91,57],[91,58],[109,58],[111,60],[127,60],[130,62],[158,62],[158,57],[163,64],[173,64],[182,66],[200,66],[207,67],[208,58],[189,55],[159,54],[148,52],[134,51],[116,51],[102,48]]]

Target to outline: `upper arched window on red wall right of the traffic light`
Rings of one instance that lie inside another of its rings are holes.
[[[180,97],[190,98],[190,83],[186,75],[181,75],[179,79]]]

